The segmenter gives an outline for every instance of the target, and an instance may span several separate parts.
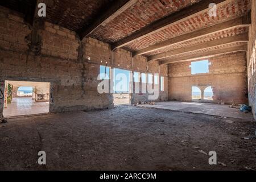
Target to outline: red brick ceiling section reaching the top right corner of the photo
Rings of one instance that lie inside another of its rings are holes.
[[[203,27],[225,22],[225,20],[245,15],[249,10],[249,0],[233,0],[227,2],[228,3],[225,3],[223,6],[217,8],[217,17],[209,17],[208,11],[204,11],[201,14],[192,16],[189,19],[185,19],[162,31],[137,40],[127,45],[125,48],[129,49],[130,51],[137,51],[164,40],[174,38],[175,36],[183,35],[191,31],[199,30]]]

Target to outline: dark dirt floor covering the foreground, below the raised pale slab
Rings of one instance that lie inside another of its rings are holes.
[[[256,169],[255,127],[252,120],[133,106],[13,118],[0,125],[0,169]],[[41,150],[46,166],[36,163]],[[200,150],[216,151],[220,164],[210,166]]]

